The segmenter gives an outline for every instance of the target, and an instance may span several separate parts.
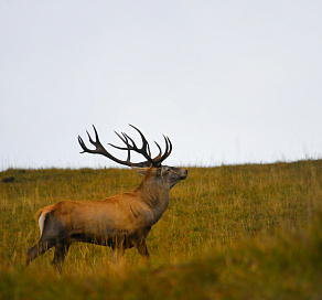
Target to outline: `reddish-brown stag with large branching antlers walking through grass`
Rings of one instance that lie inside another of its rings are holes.
[[[109,246],[112,249],[112,261],[118,262],[125,250],[135,247],[143,261],[149,264],[150,254],[147,247],[147,236],[151,227],[161,218],[170,203],[170,190],[187,178],[187,170],[162,165],[172,152],[172,143],[163,135],[165,150],[154,141],[159,154],[152,158],[150,144],[143,133],[130,125],[141,137],[142,146],[138,148],[127,133],[115,133],[125,147],[109,146],[127,151],[127,160],[114,157],[99,141],[95,126],[95,140],[87,132],[89,142],[95,149],[89,149],[78,136],[83,149],[80,153],[101,154],[118,164],[130,167],[143,175],[142,181],[133,192],[117,194],[104,200],[94,201],[61,201],[41,208],[36,213],[41,237],[25,254],[28,266],[36,257],[55,247],[52,265],[62,272],[62,267],[73,242],[83,242]],[[131,152],[144,158],[141,162],[131,162]]]

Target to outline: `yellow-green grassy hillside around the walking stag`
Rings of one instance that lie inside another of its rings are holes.
[[[39,239],[35,213],[61,200],[133,190],[131,170],[0,172],[0,299],[322,299],[322,160],[190,168],[148,236],[151,266],[135,249],[73,244],[60,276],[53,250],[25,269]]]

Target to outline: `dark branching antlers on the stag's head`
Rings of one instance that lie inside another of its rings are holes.
[[[78,136],[78,142],[80,144],[80,147],[83,148],[83,152],[80,153],[94,153],[94,154],[103,154],[107,158],[109,158],[110,160],[117,162],[117,163],[120,163],[120,164],[125,164],[125,165],[128,165],[128,167],[150,167],[150,165],[153,165],[153,167],[160,167],[162,161],[164,161],[171,153],[172,151],[172,143],[170,141],[170,139],[165,136],[163,136],[164,138],[164,141],[165,141],[165,152],[164,154],[162,156],[162,150],[161,150],[161,147],[159,146],[158,142],[154,141],[154,143],[157,144],[157,147],[159,148],[159,154],[152,159],[151,157],[151,151],[150,151],[150,146],[149,146],[149,142],[147,141],[146,137],[143,136],[143,133],[138,129],[136,128],[135,126],[130,125],[132,128],[135,128],[141,136],[141,139],[142,139],[142,147],[141,148],[138,148],[137,144],[135,143],[135,141],[125,132],[121,132],[122,136],[120,136],[118,132],[116,132],[116,135],[121,139],[121,141],[126,144],[126,148],[124,147],[118,147],[118,146],[114,146],[111,143],[109,143],[109,146],[114,147],[114,148],[117,148],[117,149],[120,149],[120,150],[127,150],[128,151],[128,158],[126,161],[124,160],[119,160],[117,159],[116,157],[114,157],[112,154],[110,154],[104,147],[103,144],[100,143],[99,141],[99,138],[98,138],[98,133],[97,133],[97,130],[95,128],[95,126],[93,125],[93,128],[94,128],[94,132],[95,132],[95,141],[92,139],[90,135],[87,132],[87,136],[88,136],[88,139],[90,141],[92,144],[95,146],[95,149],[92,150],[92,149],[88,149],[85,144],[85,142],[83,141],[83,139]],[[142,154],[147,161],[142,161],[142,162],[131,162],[130,161],[130,152],[131,151],[135,151],[137,153],[140,153]]]

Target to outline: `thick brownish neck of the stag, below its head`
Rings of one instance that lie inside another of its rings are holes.
[[[170,185],[162,178],[144,178],[135,193],[150,207],[157,223],[169,205]]]

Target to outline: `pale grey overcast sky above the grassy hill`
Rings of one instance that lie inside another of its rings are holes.
[[[128,124],[169,136],[170,165],[321,158],[321,0],[2,0],[0,170],[116,167],[79,154],[93,124],[108,149],[114,130],[140,140]]]

